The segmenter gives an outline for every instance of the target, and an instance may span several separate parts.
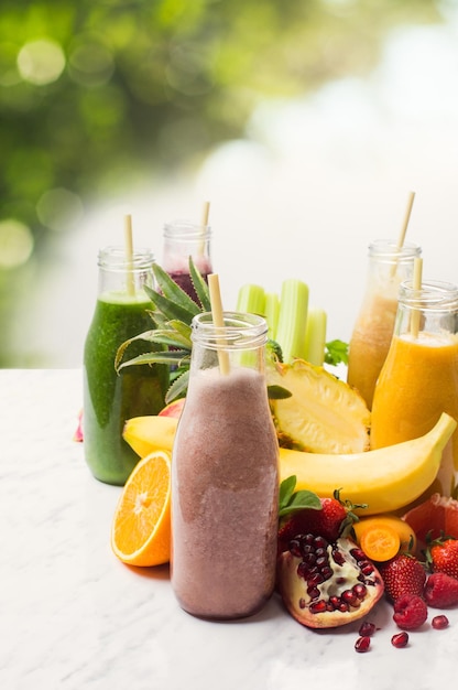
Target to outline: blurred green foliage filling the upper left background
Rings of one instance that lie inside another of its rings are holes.
[[[53,230],[243,136],[255,105],[373,67],[434,0],[2,0],[0,366]]]

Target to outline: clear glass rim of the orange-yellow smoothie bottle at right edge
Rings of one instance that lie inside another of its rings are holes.
[[[422,280],[421,289],[412,280],[400,285],[400,303],[418,310],[458,311],[458,285],[441,280]]]

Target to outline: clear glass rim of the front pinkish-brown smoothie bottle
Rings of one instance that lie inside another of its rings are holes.
[[[244,312],[223,312],[223,326],[216,326],[211,312],[203,312],[192,321],[190,338],[209,349],[248,349],[268,342],[268,322],[263,316]]]

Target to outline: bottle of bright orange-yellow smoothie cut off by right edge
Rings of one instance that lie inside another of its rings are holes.
[[[414,290],[412,281],[402,283],[393,339],[373,398],[371,448],[421,436],[441,412],[458,419],[457,330],[458,287],[423,281]],[[444,451],[434,490],[449,496],[456,471],[457,431]]]

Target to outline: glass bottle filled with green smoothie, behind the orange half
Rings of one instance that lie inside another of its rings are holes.
[[[150,250],[135,250],[129,259],[120,247],[99,251],[98,299],[84,349],[83,429],[86,462],[100,482],[122,486],[139,456],[122,438],[124,422],[132,417],[156,414],[165,405],[168,367],[129,366],[118,374],[118,347],[132,336],[153,327],[148,314],[152,304],[143,285],[153,287]],[[130,357],[151,344],[139,341],[129,347]]]

